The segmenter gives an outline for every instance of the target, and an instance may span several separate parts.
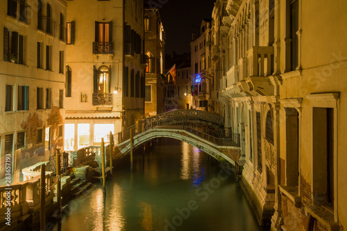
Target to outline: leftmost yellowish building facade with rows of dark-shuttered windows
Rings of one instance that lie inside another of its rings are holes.
[[[0,14],[0,179],[62,148],[65,115],[65,0],[4,0]],[[8,154],[8,156],[6,156]]]

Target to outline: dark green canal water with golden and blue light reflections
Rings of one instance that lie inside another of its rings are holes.
[[[160,138],[117,165],[112,180],[71,201],[61,230],[266,230],[235,174],[185,142]],[[57,228],[55,228],[57,229]]]

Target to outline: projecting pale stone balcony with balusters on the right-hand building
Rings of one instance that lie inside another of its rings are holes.
[[[249,76],[269,76],[273,73],[273,46],[253,46],[248,50]]]

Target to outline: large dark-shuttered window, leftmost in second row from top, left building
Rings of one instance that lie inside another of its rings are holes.
[[[24,64],[24,35],[3,28],[3,60]]]

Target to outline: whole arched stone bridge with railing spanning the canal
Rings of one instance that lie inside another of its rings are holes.
[[[114,135],[115,158],[126,156],[133,147],[155,138],[167,137],[187,142],[218,160],[232,165],[239,159],[239,134],[224,128],[219,115],[198,110],[175,110],[146,118]]]

